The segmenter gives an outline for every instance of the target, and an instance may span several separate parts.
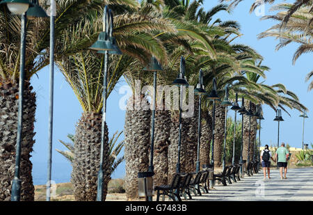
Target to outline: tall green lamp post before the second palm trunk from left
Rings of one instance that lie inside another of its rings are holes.
[[[111,19],[111,20],[110,20]],[[107,91],[107,73],[108,73],[108,61],[109,61],[109,51],[117,51],[116,46],[114,46],[110,40],[109,35],[112,35],[110,29],[110,21],[113,24],[113,16],[111,15],[111,10],[108,6],[104,7],[103,16],[103,31],[99,33],[98,40],[89,48],[96,51],[104,51],[104,89],[103,89],[103,111],[102,111],[102,136],[101,136],[101,149],[100,149],[100,165],[98,172],[98,182],[97,182],[97,201],[103,200],[103,160],[104,160],[104,135],[105,135],[105,123],[106,123],[106,91]]]

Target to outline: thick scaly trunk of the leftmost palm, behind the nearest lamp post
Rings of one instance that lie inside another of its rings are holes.
[[[35,93],[30,83],[24,84],[23,129],[21,166],[19,168],[22,180],[22,201],[34,200],[34,186],[31,170],[31,152],[33,152],[33,136],[35,136]],[[12,180],[15,172],[15,145],[17,138],[17,110],[18,110],[17,83],[0,82],[0,201],[10,200]]]

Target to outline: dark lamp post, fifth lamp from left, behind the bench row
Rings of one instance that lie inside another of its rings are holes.
[[[195,172],[200,171],[200,138],[201,138],[201,95],[206,95],[207,91],[204,90],[203,86],[203,72],[199,71],[199,83],[194,90],[195,95],[199,96],[199,112],[198,112],[198,147],[197,147],[197,163],[195,165]]]

